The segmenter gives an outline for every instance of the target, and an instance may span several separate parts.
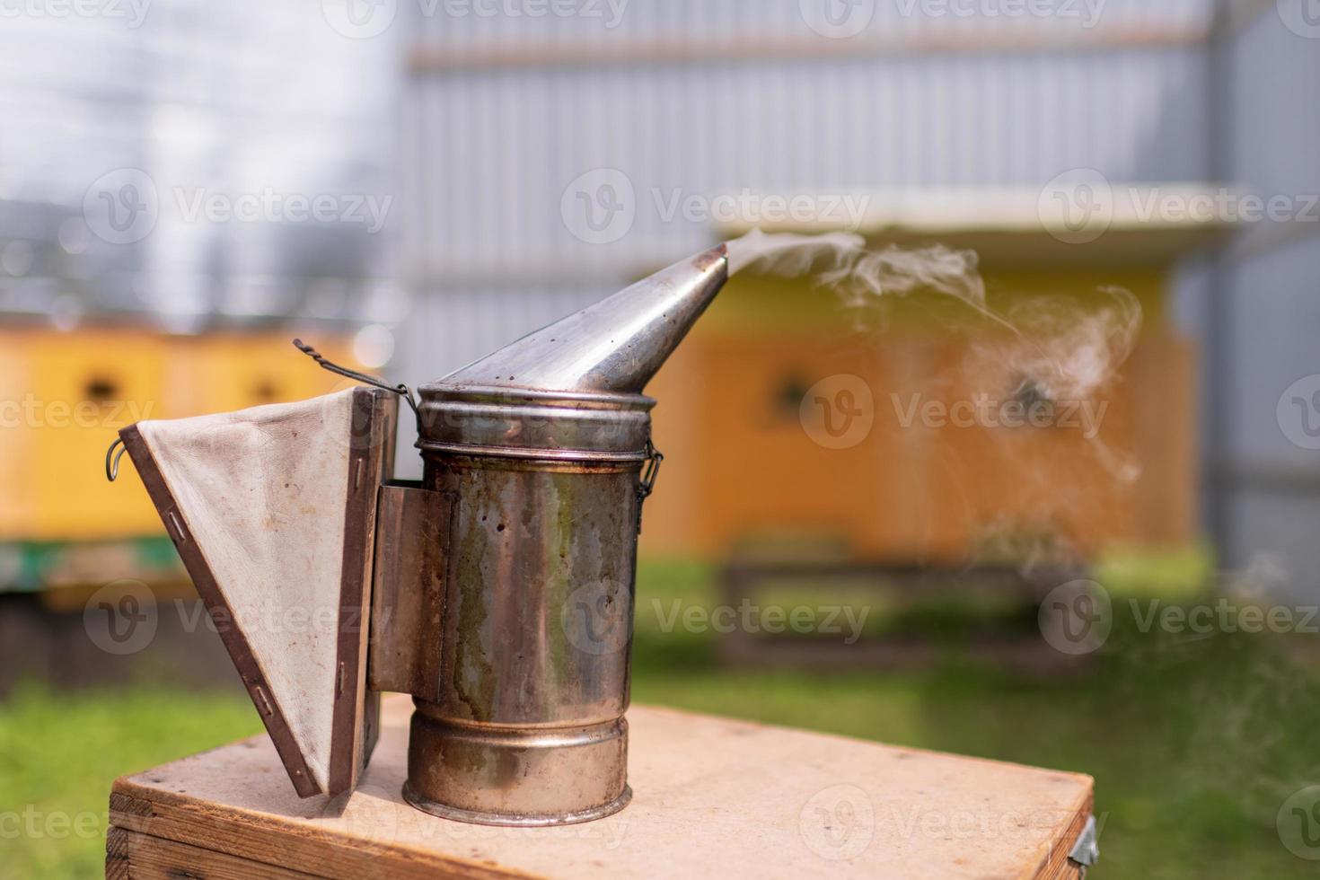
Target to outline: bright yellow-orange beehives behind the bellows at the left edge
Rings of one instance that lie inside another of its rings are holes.
[[[0,541],[160,534],[137,480],[106,480],[116,431],[144,418],[302,400],[346,384],[298,354],[290,335],[0,330]],[[327,358],[351,363],[343,339],[317,342]],[[132,475],[127,456],[120,468]]]

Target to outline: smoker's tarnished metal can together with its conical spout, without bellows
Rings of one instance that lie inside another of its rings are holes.
[[[414,628],[438,644],[408,681],[414,806],[560,825],[628,802],[638,532],[660,464],[642,391],[727,277],[726,248],[704,251],[420,389],[422,479],[449,516],[426,545],[442,562],[418,554],[432,611]]]

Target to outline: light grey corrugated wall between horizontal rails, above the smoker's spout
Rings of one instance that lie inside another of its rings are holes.
[[[408,99],[426,145],[409,264],[488,277],[672,256],[710,234],[667,222],[675,191],[1040,185],[1080,166],[1185,179],[1204,166],[1200,66],[1175,49],[424,75]],[[609,247],[560,211],[602,168],[638,201]]]

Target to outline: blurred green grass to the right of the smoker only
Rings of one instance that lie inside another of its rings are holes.
[[[1275,830],[1283,801],[1320,784],[1320,674],[1286,650],[1313,637],[1140,632],[1129,599],[1144,610],[1150,587],[1122,570],[1126,582],[1106,578],[1114,632],[1076,673],[1011,674],[950,654],[924,672],[807,674],[721,670],[710,639],[659,632],[651,599],[709,606],[711,591],[700,569],[649,566],[634,699],[1089,773],[1098,880],[1316,876]]]

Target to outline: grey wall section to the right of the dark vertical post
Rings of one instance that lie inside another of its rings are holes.
[[[1304,0],[1296,0],[1300,9]],[[1274,4],[1269,4],[1274,5]],[[1311,36],[1283,18],[1259,16],[1228,45],[1228,94],[1216,137],[1226,175],[1251,193],[1287,197],[1309,219],[1254,224],[1216,265],[1221,297],[1206,410],[1212,430],[1210,486],[1218,501],[1225,563],[1254,570],[1265,586],[1320,600],[1320,451],[1309,442],[1320,422],[1309,391],[1282,400],[1299,379],[1320,373],[1320,26]],[[1320,380],[1317,380],[1320,387]],[[1299,434],[1298,431],[1303,431]]]

